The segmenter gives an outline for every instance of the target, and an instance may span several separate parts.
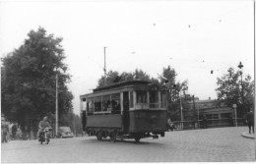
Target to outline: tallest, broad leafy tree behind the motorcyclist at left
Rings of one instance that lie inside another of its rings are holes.
[[[28,36],[23,45],[2,59],[1,67],[1,112],[23,130],[36,129],[43,116],[54,121],[56,75],[59,116],[73,109],[73,95],[66,85],[71,76],[63,63],[62,38],[46,34],[42,27],[31,30]]]

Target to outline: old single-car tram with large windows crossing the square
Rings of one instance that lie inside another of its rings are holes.
[[[158,84],[120,82],[80,96],[83,130],[98,140],[164,137],[166,95]]]

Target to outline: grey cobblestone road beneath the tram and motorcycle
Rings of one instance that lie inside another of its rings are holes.
[[[2,162],[200,162],[254,161],[255,141],[246,127],[168,132],[159,139],[111,142],[96,137],[2,143]]]

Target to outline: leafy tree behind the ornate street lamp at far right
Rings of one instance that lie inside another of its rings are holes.
[[[254,101],[254,81],[246,75],[242,82],[242,93],[240,74],[241,72],[229,68],[223,77],[217,79],[216,88],[220,103],[224,102],[229,107],[237,105],[237,117],[243,117],[249,108],[253,107]]]

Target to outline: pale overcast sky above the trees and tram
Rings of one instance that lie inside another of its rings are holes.
[[[30,30],[63,37],[72,75],[74,111],[106,70],[141,69],[158,78],[163,67],[188,80],[188,93],[217,98],[217,78],[229,67],[254,79],[253,1],[1,1],[0,56],[19,48]],[[211,74],[211,71],[214,74]]]

